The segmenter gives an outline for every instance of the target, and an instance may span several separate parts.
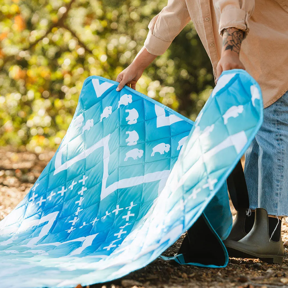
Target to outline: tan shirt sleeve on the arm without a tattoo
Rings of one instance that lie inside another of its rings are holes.
[[[145,48],[153,55],[162,55],[190,20],[185,0],[168,0],[148,25]]]

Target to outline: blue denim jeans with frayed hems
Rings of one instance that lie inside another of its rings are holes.
[[[263,124],[245,153],[250,209],[288,216],[288,91],[264,109]]]

